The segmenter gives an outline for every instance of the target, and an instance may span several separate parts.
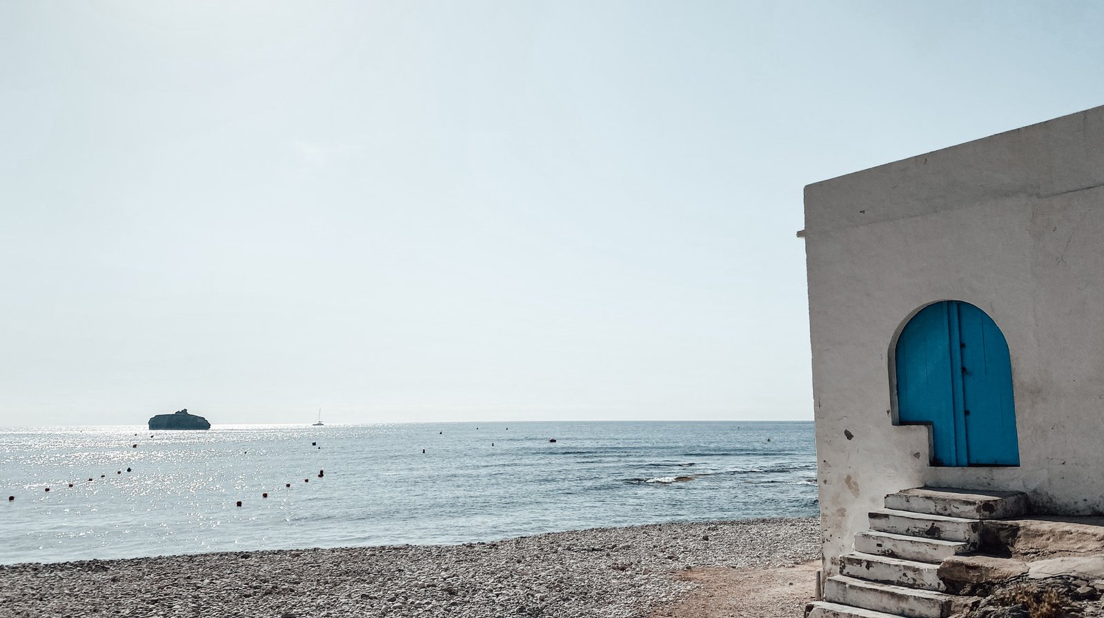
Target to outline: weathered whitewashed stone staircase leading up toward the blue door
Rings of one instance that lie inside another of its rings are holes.
[[[885,497],[870,513],[870,530],[854,536],[854,551],[840,556],[840,574],[828,577],[824,600],[807,618],[947,618],[970,597],[946,593],[940,563],[977,548],[981,520],[1027,511],[1018,492],[944,488],[907,489]]]

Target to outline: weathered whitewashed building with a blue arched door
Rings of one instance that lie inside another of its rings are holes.
[[[906,488],[1104,513],[1104,107],[810,184],[805,219],[826,575]]]

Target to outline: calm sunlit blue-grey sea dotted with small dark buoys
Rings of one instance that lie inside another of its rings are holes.
[[[818,512],[813,423],[10,427],[0,488],[0,564]]]

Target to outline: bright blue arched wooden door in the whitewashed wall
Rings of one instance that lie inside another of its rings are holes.
[[[894,360],[898,419],[932,425],[933,465],[1019,465],[1008,343],[985,311],[928,305],[901,331]]]

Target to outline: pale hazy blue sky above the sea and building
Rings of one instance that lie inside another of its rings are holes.
[[[811,419],[803,188],[1100,2],[0,2],[0,425]]]

